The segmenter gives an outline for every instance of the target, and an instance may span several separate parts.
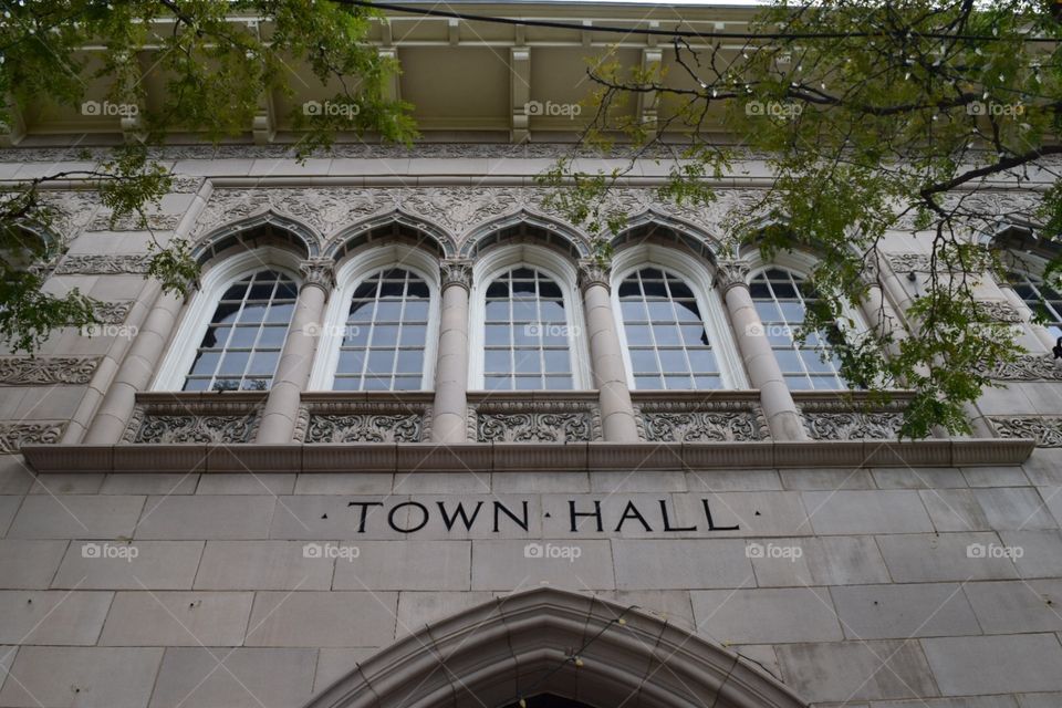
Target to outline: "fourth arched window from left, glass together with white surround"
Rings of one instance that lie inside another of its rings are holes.
[[[707,271],[653,244],[621,251],[614,266],[613,308],[633,389],[747,385]]]

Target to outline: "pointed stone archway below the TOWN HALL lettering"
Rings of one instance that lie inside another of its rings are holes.
[[[400,639],[305,708],[804,708],[777,679],[659,618],[540,587]],[[565,702],[560,702],[565,701]]]

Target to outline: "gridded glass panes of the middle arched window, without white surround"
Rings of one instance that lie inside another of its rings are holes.
[[[560,287],[516,268],[487,288],[483,382],[488,391],[571,389],[569,324]]]

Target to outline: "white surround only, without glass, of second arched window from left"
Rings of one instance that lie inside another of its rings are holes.
[[[332,391],[335,383],[335,369],[340,363],[340,346],[351,308],[354,290],[365,279],[382,270],[400,268],[415,273],[428,284],[428,329],[424,343],[424,373],[419,391],[435,387],[435,360],[438,356],[439,342],[439,262],[423,249],[402,243],[369,247],[345,259],[335,272],[336,289],[329,299],[325,309],[321,336],[317,340],[317,354],[310,373],[308,391]],[[354,393],[354,392],[347,392]],[[379,392],[387,393],[387,392]],[[393,392],[400,393],[400,392]]]

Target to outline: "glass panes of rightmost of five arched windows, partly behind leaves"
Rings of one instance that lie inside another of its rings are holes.
[[[830,344],[831,339],[840,336],[840,331],[811,332],[804,342],[795,339],[808,305],[815,300],[815,293],[804,277],[775,266],[753,277],[749,288],[764,334],[789,387],[847,388],[840,375],[841,362]]]

